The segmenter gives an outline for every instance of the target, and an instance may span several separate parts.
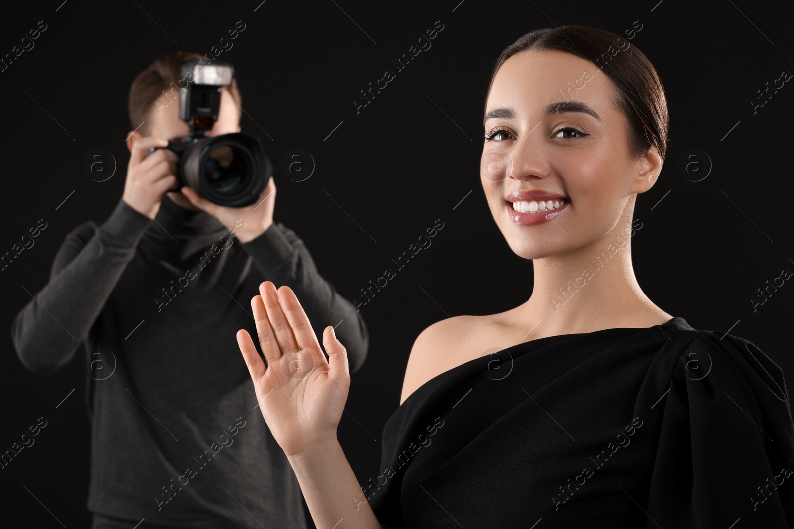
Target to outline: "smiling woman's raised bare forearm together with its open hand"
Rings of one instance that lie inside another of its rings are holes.
[[[314,524],[381,529],[337,440],[350,387],[345,346],[327,326],[326,361],[288,286],[276,290],[263,282],[251,307],[264,362],[245,329],[237,332],[237,343],[262,416],[295,470]]]

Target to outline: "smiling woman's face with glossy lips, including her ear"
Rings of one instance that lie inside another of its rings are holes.
[[[480,178],[521,257],[561,254],[622,229],[633,195],[653,186],[661,159],[655,148],[630,155],[616,90],[598,67],[559,51],[518,53],[496,73]]]

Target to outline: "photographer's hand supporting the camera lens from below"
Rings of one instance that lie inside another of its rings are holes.
[[[273,209],[276,207],[276,182],[273,182],[272,176],[256,202],[245,206],[245,208],[226,208],[215,204],[204,197],[199,197],[194,190],[187,186],[182,188],[182,194],[191,201],[192,205],[220,220],[226,228],[239,230],[237,239],[241,243],[256,239],[273,224]],[[245,222],[245,228],[241,229],[237,225],[238,219]]]

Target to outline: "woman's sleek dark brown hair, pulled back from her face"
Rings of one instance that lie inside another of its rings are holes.
[[[626,42],[615,33],[584,25],[536,29],[520,36],[499,55],[491,75],[491,86],[499,68],[516,53],[529,50],[572,53],[598,66],[618,87],[619,97],[615,105],[629,125],[630,151],[634,155],[642,155],[653,145],[661,159],[665,159],[669,131],[665,90],[645,54],[631,44],[623,48],[621,40]],[[610,49],[615,49],[615,53],[608,52]],[[488,86],[489,93],[491,86]],[[488,94],[485,99],[488,104]]]

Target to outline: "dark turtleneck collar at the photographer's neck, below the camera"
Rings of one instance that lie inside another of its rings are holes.
[[[154,220],[145,236],[163,248],[164,258],[177,259],[179,262],[214,243],[220,243],[224,233],[229,236],[221,221],[210,213],[183,209],[168,195],[164,195],[160,202]]]

